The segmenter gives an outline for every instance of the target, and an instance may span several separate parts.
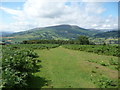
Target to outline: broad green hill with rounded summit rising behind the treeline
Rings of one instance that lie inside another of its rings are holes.
[[[68,40],[68,39],[75,39],[80,35],[91,37],[97,33],[100,33],[100,31],[91,31],[73,25],[58,25],[58,26],[50,26],[45,28],[34,28],[28,31],[7,35],[7,37],[14,37],[12,38],[14,42],[20,42],[23,40],[33,40],[33,39]]]

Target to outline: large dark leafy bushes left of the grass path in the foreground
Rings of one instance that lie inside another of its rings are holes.
[[[27,78],[38,70],[38,55],[31,50],[3,47],[2,86],[7,88],[27,86]]]

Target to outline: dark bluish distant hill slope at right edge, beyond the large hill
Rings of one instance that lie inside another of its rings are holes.
[[[94,35],[97,38],[117,38],[120,37],[120,31],[108,31]]]

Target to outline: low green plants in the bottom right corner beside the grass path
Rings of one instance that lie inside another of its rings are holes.
[[[106,66],[105,63],[102,65]],[[117,79],[111,79],[97,71],[98,68],[94,68],[91,71],[91,80],[94,84],[96,84],[99,88],[118,88],[119,81]]]

